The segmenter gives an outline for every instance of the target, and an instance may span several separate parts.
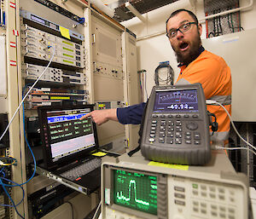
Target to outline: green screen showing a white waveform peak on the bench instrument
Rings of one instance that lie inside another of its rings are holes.
[[[157,177],[113,170],[113,203],[157,215]]]

